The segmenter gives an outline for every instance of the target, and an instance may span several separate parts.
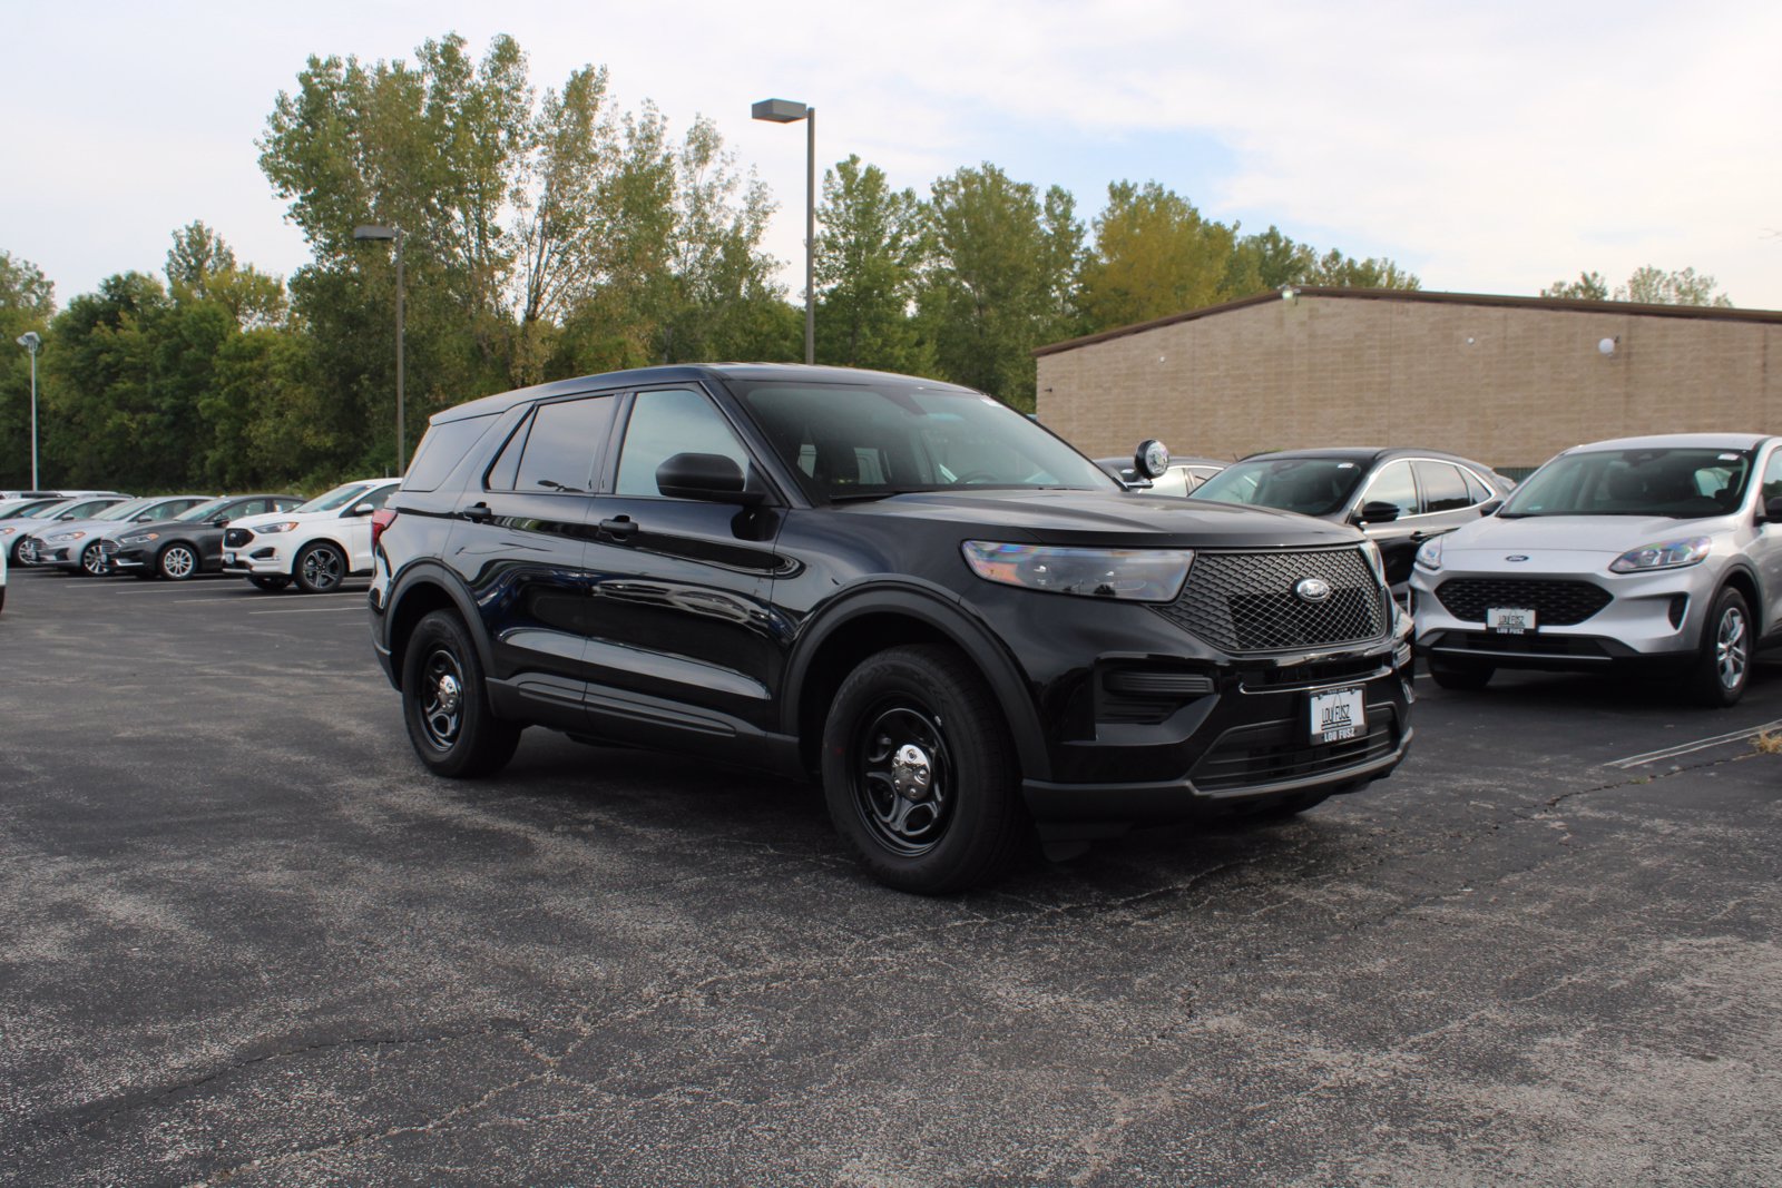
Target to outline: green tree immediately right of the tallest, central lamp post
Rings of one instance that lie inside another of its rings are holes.
[[[934,349],[914,306],[927,255],[916,191],[893,191],[879,166],[850,155],[823,173],[816,210],[816,358],[925,372]]]

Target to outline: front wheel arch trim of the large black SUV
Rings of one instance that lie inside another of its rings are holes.
[[[996,695],[1026,778],[1050,778],[1039,712],[1019,666],[971,616],[918,590],[873,590],[825,609],[802,632],[786,670],[782,728],[798,741],[805,771],[822,766],[823,721],[836,691],[861,661],[907,643],[943,643],[959,650]]]

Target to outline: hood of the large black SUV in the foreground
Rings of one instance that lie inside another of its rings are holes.
[[[1353,527],[1292,511],[1121,492],[921,492],[838,509],[850,517],[936,520],[991,540],[1048,545],[1278,549],[1361,541]]]

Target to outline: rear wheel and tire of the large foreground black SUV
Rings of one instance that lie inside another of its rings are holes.
[[[403,723],[421,762],[453,778],[494,775],[520,745],[522,727],[488,707],[476,643],[453,611],[433,611],[408,638]]]

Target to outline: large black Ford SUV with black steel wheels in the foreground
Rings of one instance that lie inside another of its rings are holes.
[[[372,638],[440,775],[527,725],[820,777],[886,883],[1039,826],[1281,816],[1386,775],[1410,623],[1353,527],[1126,492],[998,401],[832,367],[568,379],[433,417]]]

